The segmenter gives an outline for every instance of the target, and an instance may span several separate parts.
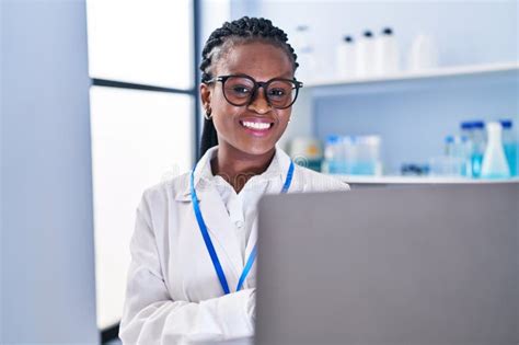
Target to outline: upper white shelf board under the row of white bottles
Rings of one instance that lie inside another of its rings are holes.
[[[519,77],[519,61],[442,67],[422,72],[400,72],[384,77],[354,78],[354,79],[326,79],[312,80],[304,83],[304,88],[314,92],[330,95],[330,93],[364,92],[377,87],[388,90],[388,87],[394,88],[416,88],[416,84],[436,84],[446,81],[466,81],[470,83],[482,81],[512,81],[517,82]]]

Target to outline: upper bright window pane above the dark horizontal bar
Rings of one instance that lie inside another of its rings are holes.
[[[89,70],[96,79],[191,90],[191,0],[90,0]]]

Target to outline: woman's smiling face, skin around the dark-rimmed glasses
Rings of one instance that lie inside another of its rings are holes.
[[[246,74],[257,82],[273,78],[292,79],[293,69],[287,53],[268,43],[252,42],[233,45],[212,68],[212,76]],[[242,157],[273,152],[287,128],[291,107],[272,107],[257,90],[249,105],[234,106],[223,96],[222,83],[200,85],[204,107],[211,110],[221,150]]]

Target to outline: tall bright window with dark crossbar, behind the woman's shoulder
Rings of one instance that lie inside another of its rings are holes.
[[[120,321],[142,192],[197,150],[196,0],[88,0],[97,325]]]

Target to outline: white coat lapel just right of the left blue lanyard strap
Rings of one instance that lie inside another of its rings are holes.
[[[197,191],[197,196],[200,200],[199,205],[204,221],[226,272],[227,283],[231,291],[234,291],[243,269],[240,244],[233,231],[234,226],[230,221],[226,206],[216,188],[208,187],[204,188],[204,191]],[[230,263],[230,265],[226,265],[226,262]],[[232,269],[226,269],[226,266]],[[232,272],[232,276],[228,274],[229,271]]]

